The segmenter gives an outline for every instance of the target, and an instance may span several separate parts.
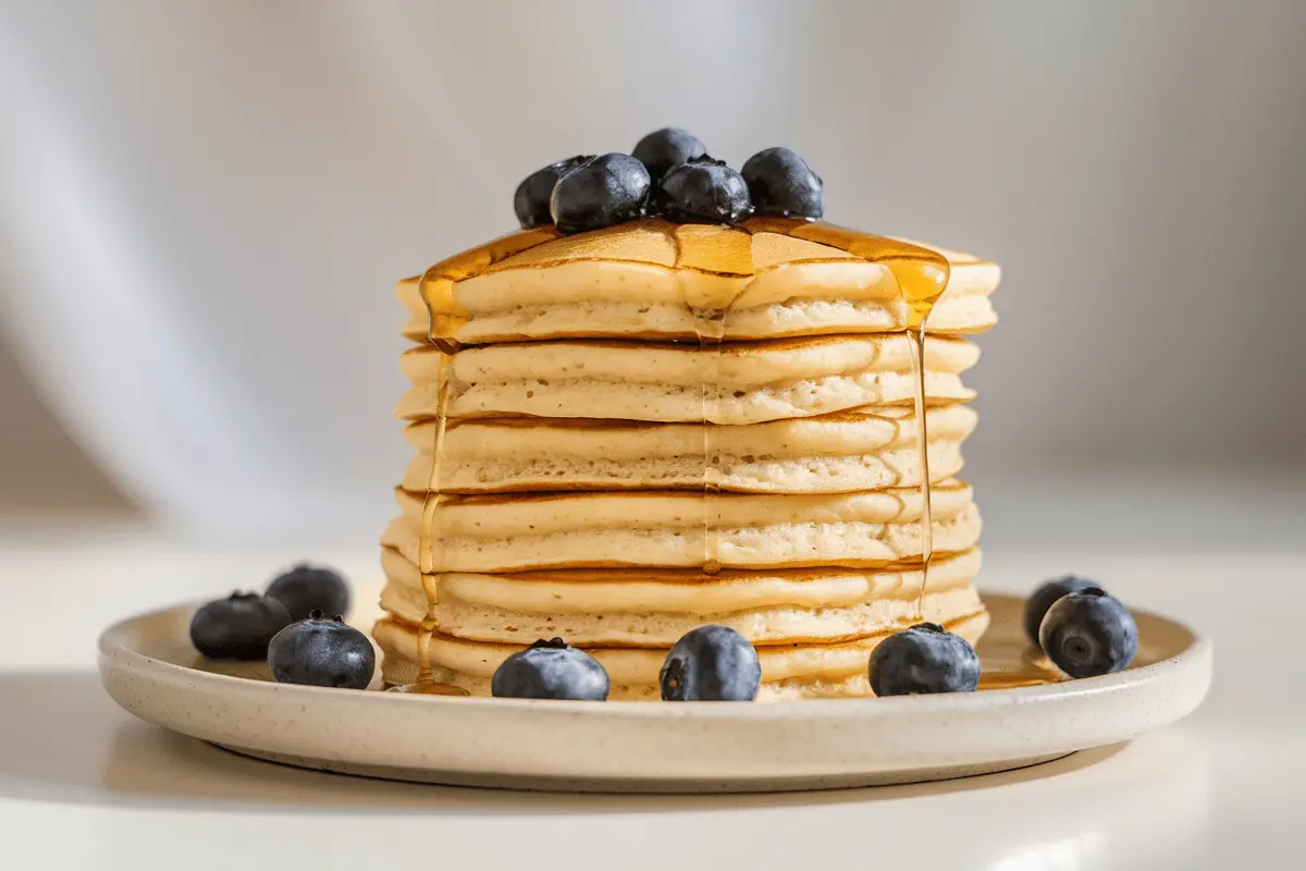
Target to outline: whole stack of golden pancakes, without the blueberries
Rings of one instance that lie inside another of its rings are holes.
[[[545,229],[400,282],[415,457],[383,538],[387,680],[488,695],[507,656],[560,636],[611,697],[657,699],[667,649],[720,623],[757,646],[759,699],[868,695],[888,633],[927,619],[976,641],[961,337],[996,321],[998,268],[893,243],[947,282],[923,354],[927,535],[904,273],[842,239]]]

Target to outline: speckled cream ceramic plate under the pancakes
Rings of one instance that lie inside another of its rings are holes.
[[[1021,601],[985,597],[986,669],[1028,659]],[[1115,675],[973,693],[773,704],[569,703],[277,684],[264,665],[204,661],[192,606],[99,641],[131,713],[249,756],[351,774],[518,789],[760,791],[942,780],[1047,761],[1171,723],[1202,701],[1212,646],[1135,612]]]

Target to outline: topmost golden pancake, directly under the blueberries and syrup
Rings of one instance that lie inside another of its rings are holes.
[[[842,251],[841,231],[824,225],[774,230],[793,222],[752,219],[743,229],[635,221],[607,230],[549,239],[537,232],[524,251],[468,268],[452,287],[427,296],[438,336],[466,345],[626,337],[695,340],[705,329],[734,340],[901,330],[908,307],[885,262]],[[538,243],[543,239],[542,244]],[[504,240],[504,251],[515,245]],[[892,242],[892,240],[891,240]],[[914,245],[918,243],[902,243]],[[947,290],[930,329],[964,334],[989,329],[996,315],[989,295],[996,264],[921,245],[947,260]],[[465,257],[465,255],[464,255]],[[447,266],[441,264],[440,266]],[[440,266],[428,276],[440,276]],[[929,270],[929,266],[926,266]],[[430,319],[419,279],[400,283],[410,312],[405,336],[424,341]]]

